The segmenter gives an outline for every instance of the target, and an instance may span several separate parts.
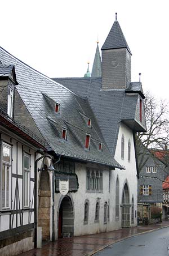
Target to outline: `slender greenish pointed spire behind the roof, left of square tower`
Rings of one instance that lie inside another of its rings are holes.
[[[91,77],[99,77],[101,76],[101,57],[99,52],[99,41],[97,41],[97,48],[95,53],[94,64],[92,67]]]

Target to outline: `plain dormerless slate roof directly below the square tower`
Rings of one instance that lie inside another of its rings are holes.
[[[88,99],[109,151],[114,156],[119,123],[123,121],[127,125],[131,123],[131,126],[134,126],[132,122],[136,119],[138,95],[136,93],[128,95],[125,90],[102,90],[101,78],[54,78],[54,80]],[[136,131],[139,129],[145,131],[141,123],[135,127]]]

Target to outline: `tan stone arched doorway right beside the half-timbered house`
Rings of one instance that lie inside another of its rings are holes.
[[[42,240],[50,240],[51,190],[47,170],[41,172],[39,182],[38,227],[42,227]]]

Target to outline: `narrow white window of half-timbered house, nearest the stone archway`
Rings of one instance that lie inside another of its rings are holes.
[[[23,154],[23,207],[30,207],[30,155]]]

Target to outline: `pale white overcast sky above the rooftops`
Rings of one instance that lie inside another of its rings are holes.
[[[83,76],[115,19],[132,52],[132,82],[169,99],[168,0],[3,0],[0,45],[53,77]]]

